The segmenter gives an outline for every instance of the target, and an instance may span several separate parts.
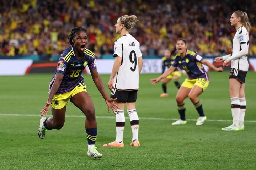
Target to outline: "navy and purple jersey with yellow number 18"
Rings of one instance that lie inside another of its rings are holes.
[[[94,53],[88,49],[85,49],[84,58],[79,60],[74,54],[73,46],[67,48],[60,55],[57,71],[50,81],[49,92],[54,83],[56,73],[64,75],[56,94],[72,91],[73,88],[78,86],[79,83],[84,83],[82,71],[86,66],[88,66],[90,70],[95,70],[97,68]]]

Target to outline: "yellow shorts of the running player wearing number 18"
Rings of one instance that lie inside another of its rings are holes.
[[[86,86],[84,83],[79,83],[72,91],[63,93],[63,94],[55,94],[52,99],[52,108],[54,109],[62,109],[68,103],[68,100],[78,94],[79,92],[87,92]]]

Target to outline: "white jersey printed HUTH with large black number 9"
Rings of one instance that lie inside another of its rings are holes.
[[[122,57],[122,62],[114,77],[114,87],[127,91],[139,89],[140,43],[130,34],[123,35],[114,42],[114,57],[117,56]]]

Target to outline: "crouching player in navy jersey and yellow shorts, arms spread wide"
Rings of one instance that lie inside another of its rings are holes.
[[[202,64],[207,65],[208,67],[218,72],[222,72],[223,69],[221,67],[216,68],[214,65],[204,60],[197,53],[187,50],[185,39],[180,38],[177,40],[176,50],[178,50],[178,54],[176,55],[172,66],[158,78],[151,79],[151,83],[158,83],[161,79],[164,79],[170,75],[178,66],[185,70],[188,78],[185,79],[185,81],[182,83],[176,95],[176,102],[178,105],[178,113],[180,114],[180,119],[176,122],[173,122],[172,125],[183,125],[187,123],[185,118],[186,108],[184,103],[184,100],[187,97],[190,98],[199,114],[196,125],[202,125],[206,120],[206,116],[204,115],[201,101],[197,97],[209,85],[209,76],[204,70]]]

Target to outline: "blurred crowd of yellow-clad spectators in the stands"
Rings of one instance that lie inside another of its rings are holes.
[[[236,32],[230,16],[247,12],[252,25],[249,55],[256,55],[256,3],[252,0],[8,0],[0,5],[0,56],[59,55],[70,46],[71,29],[85,27],[87,48],[113,54],[119,38],[114,24],[122,15],[139,21],[131,34],[143,55],[163,55],[178,38],[201,55],[228,54]]]

